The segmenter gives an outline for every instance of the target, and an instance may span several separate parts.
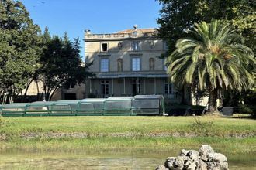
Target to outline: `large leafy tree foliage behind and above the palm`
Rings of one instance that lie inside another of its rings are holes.
[[[253,0],[158,0],[162,5],[159,36],[168,42],[169,52],[175,42],[191,29],[195,22],[222,19],[245,37],[245,44],[255,52],[256,3]]]

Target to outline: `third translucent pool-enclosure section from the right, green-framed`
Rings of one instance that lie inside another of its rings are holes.
[[[104,104],[106,99],[88,98],[83,99],[78,103],[78,115],[103,115]]]

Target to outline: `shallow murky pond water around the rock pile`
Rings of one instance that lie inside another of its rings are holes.
[[[143,151],[4,151],[0,169],[155,169],[177,153]],[[230,170],[256,169],[254,155],[227,155]]]

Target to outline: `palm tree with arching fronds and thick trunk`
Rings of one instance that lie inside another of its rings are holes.
[[[178,39],[165,64],[176,86],[209,93],[209,112],[216,111],[220,90],[245,90],[255,85],[254,53],[230,26],[218,20],[199,22],[188,35]]]

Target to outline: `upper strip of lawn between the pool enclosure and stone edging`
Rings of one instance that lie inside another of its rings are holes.
[[[213,134],[256,134],[256,121],[226,117],[4,117],[9,121],[0,134],[43,132],[109,133],[193,133],[195,120],[213,122]]]

